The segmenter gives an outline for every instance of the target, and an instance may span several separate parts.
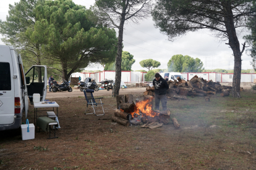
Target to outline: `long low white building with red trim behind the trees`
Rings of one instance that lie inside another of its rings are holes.
[[[124,83],[138,83],[145,82],[145,75],[147,72],[140,71],[122,71],[121,81]],[[207,81],[212,80],[214,82],[220,83],[232,83],[233,82],[233,73],[181,73],[181,75],[187,79],[193,78],[197,75],[200,78],[203,78]],[[115,79],[116,71],[100,71],[96,73],[73,73],[72,77],[81,77],[82,80],[85,78],[93,78],[96,82],[100,82],[103,79]],[[256,79],[256,73],[242,73],[241,74],[241,83],[254,83]]]

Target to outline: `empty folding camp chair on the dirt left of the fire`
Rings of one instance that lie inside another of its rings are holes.
[[[85,110],[85,115],[91,115],[91,114],[94,114],[95,116],[105,115],[104,108],[103,108],[104,103],[101,102],[101,99],[103,99],[103,97],[94,98],[93,94],[92,94],[93,92],[94,92],[94,90],[92,90],[92,89],[86,89],[85,91],[83,91],[83,94],[85,94],[85,100],[87,101],[87,105],[86,105],[87,108]],[[98,102],[95,102],[95,99],[98,99]],[[86,113],[87,109],[88,109],[88,105],[92,106],[93,113]],[[96,108],[95,107],[102,107],[103,114],[96,115]]]

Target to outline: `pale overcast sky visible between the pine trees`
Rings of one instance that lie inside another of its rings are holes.
[[[9,4],[19,2],[19,0],[0,0],[0,19],[6,20]],[[94,0],[73,0],[75,4],[86,6],[87,8],[94,4]],[[136,62],[132,65],[132,70],[147,70],[140,67],[139,62],[145,59],[153,59],[161,62],[158,68],[167,68],[167,63],[173,55],[182,54],[190,57],[199,58],[203,62],[205,69],[234,69],[233,51],[225,42],[210,36],[210,31],[200,30],[190,32],[175,41],[168,41],[168,37],[158,28],[155,28],[151,17],[143,20],[139,25],[130,24],[124,26],[124,51],[134,55]],[[246,34],[246,33],[244,33]],[[118,34],[117,34],[118,35]],[[0,38],[2,36],[0,35]],[[242,35],[239,36],[239,42],[244,43]],[[0,44],[4,44],[0,40]],[[242,45],[241,45],[242,46]],[[252,69],[250,55],[242,55],[242,69]],[[88,67],[85,70],[103,70],[103,67]]]

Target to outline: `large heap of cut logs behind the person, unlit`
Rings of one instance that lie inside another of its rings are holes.
[[[231,86],[221,86],[219,82],[206,81],[198,76],[194,76],[190,81],[184,81],[178,77],[177,80],[170,80],[167,83],[169,85],[167,97],[170,99],[187,100],[187,95],[205,97],[216,93],[221,93],[220,95],[224,97],[228,96],[232,89]],[[210,101],[209,98],[205,100]]]

